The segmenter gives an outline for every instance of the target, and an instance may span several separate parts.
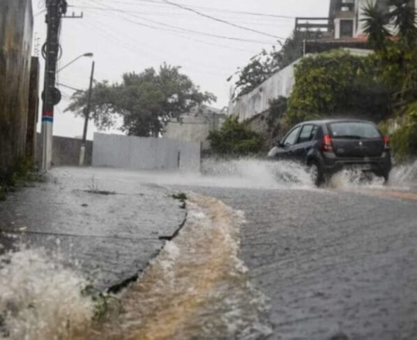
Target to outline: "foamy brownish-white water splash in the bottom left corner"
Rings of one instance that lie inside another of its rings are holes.
[[[42,249],[0,256],[0,339],[73,339],[93,316],[84,286]]]

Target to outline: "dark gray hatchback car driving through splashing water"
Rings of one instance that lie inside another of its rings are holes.
[[[268,158],[298,161],[310,168],[316,184],[342,168],[373,172],[388,181],[389,138],[371,121],[329,119],[305,121],[291,128]]]

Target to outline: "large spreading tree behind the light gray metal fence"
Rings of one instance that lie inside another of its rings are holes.
[[[84,116],[87,91],[77,91],[66,111]],[[115,126],[122,117],[121,131],[128,135],[158,137],[171,120],[195,105],[211,103],[213,94],[199,91],[199,87],[179,66],[163,64],[159,72],[147,68],[142,73],[125,73],[122,82],[96,82],[91,98],[91,118],[99,128]]]

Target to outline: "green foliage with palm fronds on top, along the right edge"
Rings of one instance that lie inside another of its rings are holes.
[[[377,3],[365,6],[365,33],[375,54],[370,57],[377,80],[391,93],[394,117],[402,126],[391,135],[397,161],[417,156],[417,29],[414,0],[386,0],[388,12]],[[393,34],[388,30],[388,23]],[[380,124],[388,131],[386,122]]]

